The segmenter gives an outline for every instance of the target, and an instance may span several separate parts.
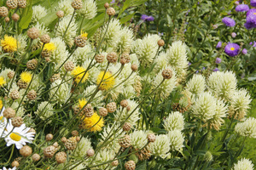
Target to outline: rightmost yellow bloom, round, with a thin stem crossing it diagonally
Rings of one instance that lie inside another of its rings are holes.
[[[103,75],[104,75],[104,71],[101,71],[99,76],[97,77],[97,81],[96,81],[97,85],[99,85],[100,82],[102,81],[102,83],[100,85],[100,89],[108,90],[109,88],[113,88],[113,85],[115,82],[113,75],[109,71],[107,71],[102,80]]]

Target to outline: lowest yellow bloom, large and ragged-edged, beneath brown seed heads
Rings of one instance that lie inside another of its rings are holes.
[[[102,127],[104,126],[104,120],[95,112],[90,117],[82,117],[84,120],[80,127],[89,130],[90,132],[96,133],[97,131],[102,131]]]

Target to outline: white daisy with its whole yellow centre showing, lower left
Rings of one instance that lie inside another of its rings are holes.
[[[22,124],[20,127],[13,127],[9,121],[6,130],[4,131],[5,142],[7,146],[15,144],[16,148],[20,150],[26,143],[32,143],[35,133],[28,133],[29,127]]]

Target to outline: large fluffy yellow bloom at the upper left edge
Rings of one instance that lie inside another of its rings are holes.
[[[1,40],[1,46],[3,51],[7,53],[12,53],[17,51],[17,40],[14,37],[5,35],[3,40]]]

